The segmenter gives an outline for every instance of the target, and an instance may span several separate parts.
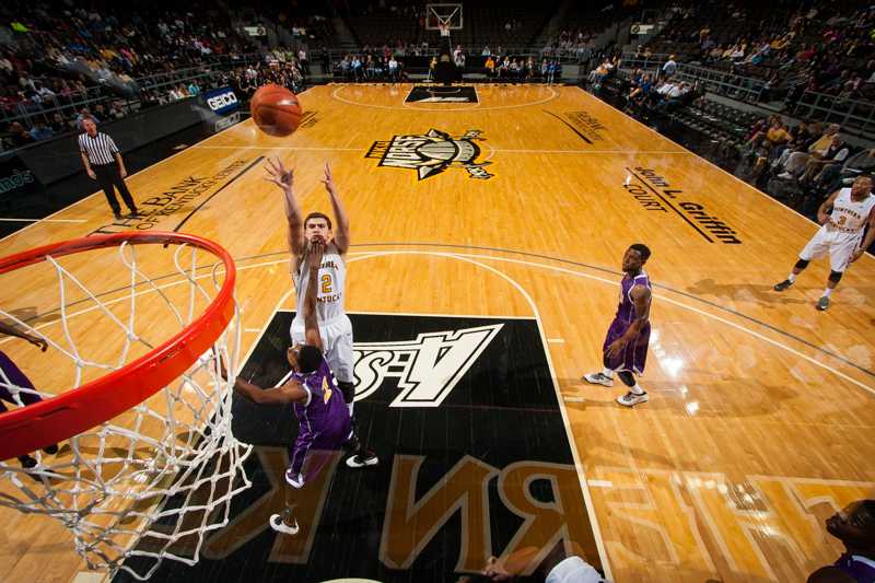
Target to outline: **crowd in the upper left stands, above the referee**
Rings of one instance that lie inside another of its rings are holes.
[[[179,85],[168,77],[144,86],[136,80],[253,49],[226,19],[199,2],[183,9],[86,10],[72,0],[60,5],[10,0],[0,4],[0,18],[11,23],[0,28],[0,109],[7,119],[20,118],[5,128],[7,147],[28,141],[25,135],[39,140],[66,131],[78,109],[98,98],[103,103],[93,105],[94,113],[116,118],[128,113],[132,100],[186,97],[199,91],[197,83]]]

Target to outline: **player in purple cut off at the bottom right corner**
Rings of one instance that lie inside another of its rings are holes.
[[[808,576],[808,583],[875,583],[875,500],[853,502],[827,518],[827,532],[844,553]]]

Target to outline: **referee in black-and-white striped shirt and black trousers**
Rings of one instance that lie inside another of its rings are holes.
[[[116,142],[106,133],[97,131],[97,124],[92,116],[86,116],[82,120],[82,129],[85,130],[85,133],[79,136],[79,151],[89,177],[97,180],[103,188],[106,201],[109,202],[116,220],[121,219],[121,208],[116,200],[114,187],[118,188],[121,199],[130,209],[130,214],[126,218],[137,217],[137,205],[125,185],[125,176],[128,175],[128,171],[125,170],[125,162],[121,160],[121,153],[118,151]]]

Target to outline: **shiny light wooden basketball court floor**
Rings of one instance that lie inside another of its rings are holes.
[[[328,162],[352,223],[354,326],[369,315],[534,323],[585,502],[567,509],[583,524],[562,533],[591,530],[581,536],[592,544],[578,540],[587,560],[621,582],[804,581],[835,561],[840,547],[824,518],[875,494],[872,257],[817,312],[826,261],[783,294],[771,290],[814,223],[580,89],[477,86],[477,103],[406,103],[410,91],[311,89],[301,101],[312,115],[291,138],[246,121],[130,177],[144,218],[113,224],[98,193],[51,217],[75,222],[34,224],[0,242],[0,254],[127,229],[214,240],[237,261],[250,351],[276,314],[294,308],[281,194],[261,179],[264,160],[295,168],[304,212],[330,210],[319,183]],[[620,259],[637,242],[653,252],[646,270],[656,284],[641,380],[651,400],[626,409],[615,403],[620,383],[580,377],[600,369]],[[38,306],[38,317],[57,307],[43,292],[16,282],[0,295],[5,310]],[[60,334],[57,322],[40,326]],[[45,386],[37,350],[0,345]],[[486,411],[498,423],[505,412]],[[386,440],[381,471],[400,471],[406,458],[393,459]],[[490,445],[533,440],[506,422]],[[490,477],[502,470],[488,467]],[[9,581],[71,581],[85,570],[54,521],[5,509],[0,520]],[[487,537],[456,573],[522,544],[508,538]],[[454,564],[462,550],[444,549]],[[396,555],[372,560],[392,568]],[[336,573],[345,575],[358,576]]]

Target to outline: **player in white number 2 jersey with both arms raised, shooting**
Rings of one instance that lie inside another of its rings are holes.
[[[340,196],[335,188],[331,168],[325,164],[325,177],[322,183],[331,200],[337,233],[331,229],[331,220],[322,212],[311,212],[305,219],[301,215],[301,206],[292,188],[293,172],[283,166],[279,158],[269,160],[265,166],[269,177],[265,179],[279,186],[284,194],[285,219],[289,224],[288,242],[292,254],[292,280],[298,294],[298,310],[292,320],[291,336],[293,343],[304,343],[303,304],[307,291],[307,277],[302,273],[302,267],[307,264],[306,257],[311,244],[320,242],[325,245],[325,253],[319,266],[316,295],[316,315],[319,323],[319,335],[325,351],[325,360],[337,380],[338,388],[343,394],[343,400],[349,407],[349,415],[355,432],[355,417],[353,416],[353,400],[355,385],[353,383],[354,358],[352,354],[352,323],[343,307],[346,291],[347,264],[345,257],[349,250],[349,218],[340,201]],[[375,466],[378,463],[376,455],[353,435],[350,442],[354,455],[347,459],[350,467]]]

